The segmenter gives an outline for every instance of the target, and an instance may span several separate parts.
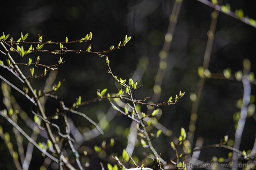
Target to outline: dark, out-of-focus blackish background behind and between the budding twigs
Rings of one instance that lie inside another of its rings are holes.
[[[223,4],[226,3],[230,4],[231,11],[243,9],[245,15],[256,19],[256,2],[254,0],[246,2],[223,0]],[[21,32],[24,35],[29,33],[26,40],[34,42],[38,41],[38,34],[40,34],[43,36],[43,42],[46,42],[49,40],[64,41],[65,37],[68,37],[69,41],[80,40],[91,31],[93,34],[91,41],[64,45],[69,50],[86,50],[89,44],[92,44],[91,51],[108,50],[112,45],[116,47],[126,35],[131,36],[131,40],[125,47],[112,51],[107,56],[110,60],[111,70],[118,78],[129,80],[133,75],[137,76],[134,77],[134,81],[139,78],[139,83],[143,84],[143,87],[136,90],[134,95],[136,99],[143,99],[148,96],[152,97],[154,94],[153,87],[159,66],[159,52],[163,48],[173,5],[174,0],[2,1],[0,33],[10,34],[13,40],[20,38]],[[203,63],[212,12],[212,8],[199,1],[184,0],[182,2],[168,54],[162,93],[158,102],[166,102],[170,96],[175,96],[180,91],[185,92],[185,96],[177,104],[159,107],[161,117],[159,117],[158,122],[170,131],[168,131],[167,136],[162,134],[159,139],[153,141],[154,147],[166,161],[175,158],[175,153],[169,143],[175,140],[175,137],[179,137],[181,127],[184,127],[187,132],[189,131],[192,106],[190,94],[195,92],[200,78],[198,67],[202,66]],[[254,27],[220,13],[209,71],[222,73],[224,69],[230,68],[231,73],[234,74],[238,70],[243,70],[243,60],[249,59],[252,66],[251,71],[255,72],[255,40],[256,29]],[[52,45],[43,48],[59,49],[59,46]],[[25,49],[27,48],[25,47]],[[107,92],[111,94],[117,93],[118,89],[121,88],[107,73],[106,60],[97,54],[31,53],[29,58],[35,61],[38,55],[40,55],[40,63],[55,64],[60,57],[65,61],[58,68],[54,83],[63,79],[65,81],[56,92],[58,99],[48,98],[46,101],[47,116],[54,114],[60,101],[64,101],[67,107],[71,107],[79,96],[82,97],[82,101],[96,98],[97,89],[108,88]],[[13,57],[20,62],[27,62],[28,60],[27,56],[22,59],[15,55]],[[0,56],[0,60],[6,61],[4,56]],[[22,69],[28,76],[29,69],[27,67]],[[38,69],[35,74],[41,72],[42,70]],[[8,71],[0,68],[0,74],[22,89],[19,81]],[[42,90],[46,78],[34,80],[33,86]],[[255,90],[255,85],[252,85],[252,95],[255,94]],[[13,89],[12,93],[21,108],[33,119],[34,116],[29,111],[29,101]],[[2,93],[0,97],[3,98]],[[227,79],[206,79],[199,100],[193,143],[201,137],[204,140],[203,146],[217,144],[225,135],[234,140],[236,130],[233,117],[234,113],[240,111],[237,102],[242,98],[242,82]],[[4,108],[1,100],[0,109]],[[143,106],[141,110],[147,112],[148,108]],[[107,101],[89,104],[79,108],[78,111],[85,113],[95,122],[99,122],[105,114],[113,112]],[[72,116],[70,119],[80,133],[92,129],[92,125],[88,121],[78,116]],[[246,119],[240,150],[247,151],[253,148],[256,133],[255,119],[255,114]],[[20,121],[20,126],[26,126],[22,120]],[[4,118],[0,118],[0,124],[4,132],[12,133],[11,125]],[[94,145],[100,146],[103,140],[108,143],[111,138],[115,138],[116,145],[107,149],[105,153],[108,159],[109,155],[112,154],[121,155],[122,150],[127,147],[127,135],[130,131],[131,120],[117,113],[109,124],[105,123],[105,126],[104,136],[95,135],[96,137],[93,137],[92,135],[86,138],[86,135],[89,134],[85,133],[84,140],[79,141],[80,143],[77,145],[80,146],[79,151],[81,153],[84,148],[93,150]],[[156,129],[152,128],[150,132],[155,133]],[[79,138],[77,137],[77,139]],[[45,139],[38,138],[37,142],[39,141],[42,142]],[[0,169],[13,169],[12,159],[7,153],[8,150],[2,139],[0,139],[0,151]],[[143,160],[145,158],[143,152],[151,153],[149,149],[144,149],[137,144],[132,156]],[[213,155],[227,158],[228,152],[225,149],[209,149],[203,151],[199,159],[209,161]],[[90,164],[87,169],[100,169],[99,162],[106,165],[110,161],[108,159],[91,154],[85,157],[82,162],[83,164]],[[39,169],[43,162],[44,157],[35,149],[29,169]],[[147,163],[150,165],[150,162]],[[48,169],[56,169],[56,166],[50,165]]]

